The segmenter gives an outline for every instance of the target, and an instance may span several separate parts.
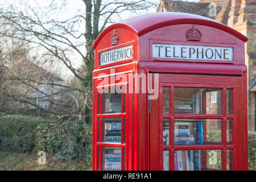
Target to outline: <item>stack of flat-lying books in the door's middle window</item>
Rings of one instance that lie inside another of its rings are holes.
[[[190,123],[178,123],[174,128],[174,144],[196,144],[195,137],[190,134]]]

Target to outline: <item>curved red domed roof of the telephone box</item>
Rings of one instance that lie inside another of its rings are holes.
[[[101,38],[103,38],[106,33],[112,31],[114,28],[127,28],[138,36],[142,36],[157,28],[175,24],[200,24],[228,32],[229,34],[236,36],[238,39],[241,39],[243,42],[248,40],[247,37],[242,35],[240,32],[210,18],[188,13],[164,12],[135,16],[133,18],[110,25],[109,27],[105,28],[95,40],[93,48],[95,49]]]

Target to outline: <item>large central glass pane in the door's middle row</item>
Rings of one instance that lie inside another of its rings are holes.
[[[221,119],[175,119],[174,144],[221,144]]]

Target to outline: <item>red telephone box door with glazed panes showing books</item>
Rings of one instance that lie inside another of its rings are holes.
[[[242,111],[241,76],[159,74],[150,169],[243,169]]]

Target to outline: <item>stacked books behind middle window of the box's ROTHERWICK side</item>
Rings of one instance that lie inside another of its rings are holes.
[[[105,142],[121,142],[121,122],[105,121]]]

